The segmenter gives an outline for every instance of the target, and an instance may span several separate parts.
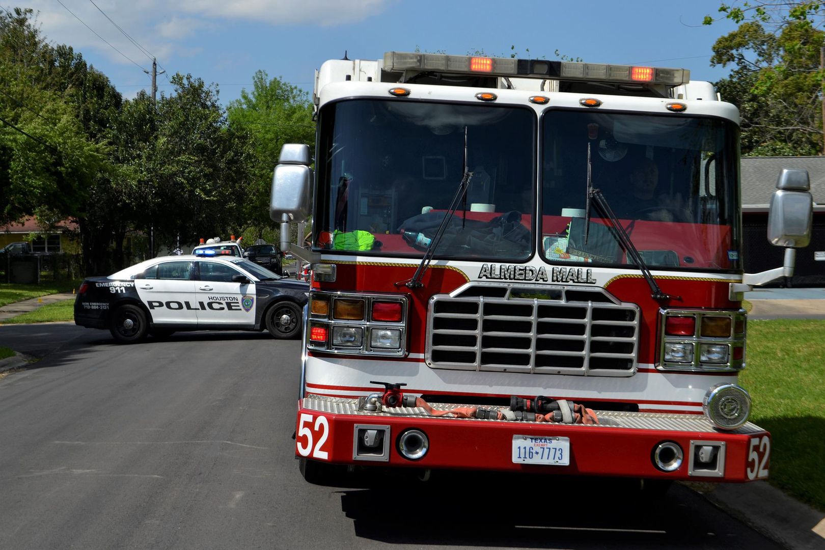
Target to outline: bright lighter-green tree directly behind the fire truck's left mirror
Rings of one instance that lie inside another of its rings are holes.
[[[243,219],[256,237],[275,238],[267,232],[272,172],[284,143],[306,143],[314,157],[315,123],[309,95],[266,71],[252,77],[252,90],[243,90],[227,109],[229,127],[246,133],[252,144],[252,179],[245,190]],[[247,232],[249,234],[249,232]]]

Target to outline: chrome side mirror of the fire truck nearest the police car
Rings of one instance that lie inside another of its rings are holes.
[[[269,217],[276,222],[303,221],[309,216],[312,169],[309,145],[286,143],[272,176]]]

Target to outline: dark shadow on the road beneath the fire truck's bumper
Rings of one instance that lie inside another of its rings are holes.
[[[357,536],[384,543],[746,548],[754,537],[766,548],[741,525],[745,534],[725,533],[719,516],[730,518],[688,488],[674,485],[665,496],[650,496],[638,480],[441,472],[430,482],[388,479],[383,486],[343,491],[341,501]]]

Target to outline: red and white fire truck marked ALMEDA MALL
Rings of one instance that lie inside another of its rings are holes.
[[[307,481],[768,476],[742,293],[793,273],[812,200],[807,172],[777,175],[784,263],[743,273],[739,115],[709,82],[389,52],[323,63],[314,104],[315,157],[285,145],[271,195],[282,235],[312,217],[311,246],[281,243],[312,266]]]

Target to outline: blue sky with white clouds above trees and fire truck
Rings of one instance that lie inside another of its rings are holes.
[[[39,12],[40,29],[51,43],[80,51],[126,98],[140,89],[148,91],[150,78],[144,69],[151,69],[151,54],[158,59],[158,71],[167,71],[158,77],[160,92],[172,90],[168,75],[191,73],[216,83],[224,105],[238,98],[244,87],[251,87],[258,69],[311,92],[314,69],[327,59],[341,59],[345,51],[350,59],[381,59],[386,51],[416,48],[558,59],[554,54],[558,50],[592,63],[688,68],[693,80],[715,81],[729,68],[709,66],[711,47],[735,28],[729,21],[701,24],[704,16],[719,15],[719,4],[719,0],[0,0],[7,9],[31,7]]]

